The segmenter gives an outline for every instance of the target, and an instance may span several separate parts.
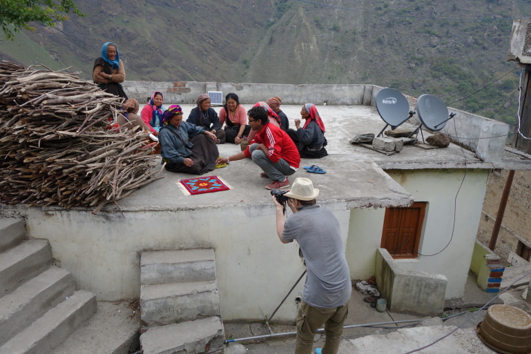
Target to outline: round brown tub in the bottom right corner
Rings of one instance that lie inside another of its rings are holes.
[[[531,353],[531,316],[514,306],[490,306],[476,332],[483,343],[499,353]]]

